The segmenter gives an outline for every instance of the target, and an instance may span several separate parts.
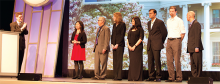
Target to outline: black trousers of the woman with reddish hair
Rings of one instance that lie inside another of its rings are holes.
[[[113,50],[113,72],[114,79],[122,79],[122,64],[123,64],[124,47],[118,46]]]

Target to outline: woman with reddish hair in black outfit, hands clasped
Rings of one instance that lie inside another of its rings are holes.
[[[113,49],[113,80],[121,80],[126,25],[124,22],[122,22],[122,15],[120,12],[116,12],[113,15],[113,20],[115,22],[113,25],[111,36],[111,45]]]

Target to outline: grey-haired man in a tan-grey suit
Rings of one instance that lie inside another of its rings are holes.
[[[107,61],[108,53],[110,51],[109,41],[110,41],[110,29],[105,26],[105,18],[99,17],[98,20],[99,28],[96,33],[95,40],[95,77],[92,77],[93,80],[105,80],[106,70],[107,70]],[[100,71],[101,63],[101,71]]]

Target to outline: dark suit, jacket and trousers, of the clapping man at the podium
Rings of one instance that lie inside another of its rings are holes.
[[[19,34],[19,68],[18,68],[18,73],[20,73],[21,70],[21,65],[22,65],[22,61],[23,61],[23,57],[24,57],[24,49],[25,49],[25,38],[24,35],[28,34],[27,29],[24,29],[23,31],[21,31],[21,27],[23,26],[23,22],[20,23],[20,25],[18,25],[17,22],[12,22],[10,24],[11,27],[11,31],[13,32],[21,32]]]

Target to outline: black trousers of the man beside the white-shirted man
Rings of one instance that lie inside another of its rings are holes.
[[[160,51],[161,50],[153,50],[152,47],[147,51],[148,53],[148,73],[150,79],[160,79],[161,76],[161,62],[160,62]],[[155,71],[155,65],[156,71]]]

